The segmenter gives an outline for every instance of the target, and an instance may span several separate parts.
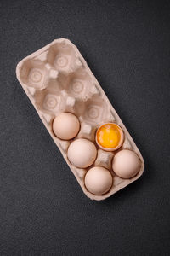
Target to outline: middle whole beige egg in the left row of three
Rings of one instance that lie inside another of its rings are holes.
[[[68,159],[73,166],[86,168],[94,163],[97,149],[94,143],[87,139],[77,139],[68,148]]]

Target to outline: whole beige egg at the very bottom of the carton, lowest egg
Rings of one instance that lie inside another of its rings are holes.
[[[89,192],[94,195],[104,195],[111,189],[113,178],[111,172],[101,166],[91,168],[84,179],[84,183]]]

